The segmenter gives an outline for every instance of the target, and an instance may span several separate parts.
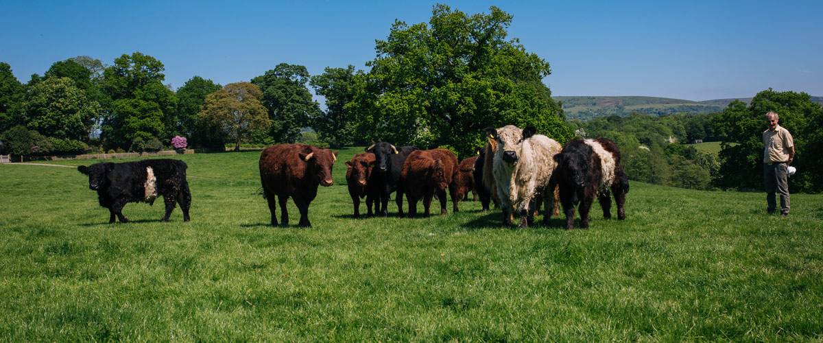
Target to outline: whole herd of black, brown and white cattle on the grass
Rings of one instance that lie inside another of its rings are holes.
[[[417,216],[417,203],[423,202],[423,215],[430,215],[434,197],[440,214],[447,213],[446,190],[452,211],[474,192],[483,211],[491,203],[503,214],[504,225],[527,227],[543,207],[544,225],[558,215],[563,206],[566,229],[574,228],[578,206],[580,227],[588,228],[588,212],[594,198],[611,218],[611,194],[617,205],[617,218],[625,219],[625,194],[629,180],[621,166],[621,155],[613,141],[605,138],[573,140],[565,146],[537,134],[534,127],[514,125],[486,129],[486,146],[476,156],[458,162],[445,149],[419,150],[414,146],[393,146],[379,142],[346,161],[346,182],[360,216],[360,201],[365,199],[367,216],[388,216],[388,200],[395,193],[398,216]],[[263,197],[271,211],[272,225],[289,224],[286,202],[291,197],[300,211],[300,226],[311,226],[309,205],[320,185],[331,186],[332,166],[337,152],[305,144],[270,146],[260,154],[260,182]],[[141,160],[121,164],[98,163],[77,167],[89,176],[89,188],[97,191],[100,206],[109,209],[109,223],[126,222],[123,206],[128,202],[150,202],[162,196],[165,215],[179,204],[184,221],[189,220],[192,196],[186,180],[186,164],[180,160]],[[403,212],[403,196],[408,208]]]

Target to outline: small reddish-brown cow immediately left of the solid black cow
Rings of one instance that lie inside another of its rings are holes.
[[[355,218],[360,217],[360,198],[365,197],[365,208],[368,216],[373,216],[380,207],[380,188],[374,182],[376,174],[372,174],[376,158],[370,152],[357,154],[346,161],[346,183],[349,187],[351,202],[355,206]],[[374,204],[374,212],[372,212]]]

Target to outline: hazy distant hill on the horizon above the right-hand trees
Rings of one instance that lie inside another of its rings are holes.
[[[653,96],[553,96],[563,103],[566,118],[588,120],[611,115],[629,114],[710,114],[722,112],[733,100],[748,104],[751,98],[717,99],[692,101]],[[823,104],[823,97],[812,96],[811,100]]]

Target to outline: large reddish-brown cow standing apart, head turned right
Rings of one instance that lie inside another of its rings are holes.
[[[289,224],[286,202],[292,197],[300,210],[300,226],[311,226],[309,204],[317,197],[319,185],[328,187],[334,183],[332,166],[336,160],[336,151],[305,144],[269,146],[260,154],[260,181],[272,212],[272,225],[277,225],[277,196],[282,225]]]

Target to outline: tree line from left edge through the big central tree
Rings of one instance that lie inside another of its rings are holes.
[[[2,63],[0,132],[28,142],[14,144],[20,155],[58,152],[46,149],[49,140],[143,151],[176,135],[194,147],[239,148],[299,141],[308,127],[329,146],[392,141],[463,155],[483,144],[483,128],[509,123],[566,140],[572,130],[542,83],[549,63],[509,37],[511,21],[497,7],[469,15],[435,5],[428,23],[395,21],[367,71],[327,67],[312,76],[280,63],[226,86],[193,76],[173,90],[163,63],[139,52],[110,65],[69,58],[26,84]]]

